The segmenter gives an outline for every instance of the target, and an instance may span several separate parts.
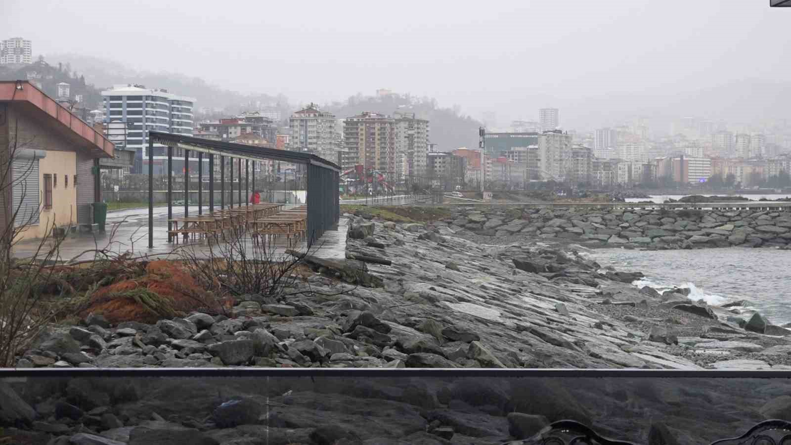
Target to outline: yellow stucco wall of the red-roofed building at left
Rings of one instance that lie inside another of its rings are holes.
[[[44,209],[45,174],[58,175],[58,182],[52,187],[52,208],[46,210]],[[39,160],[39,196],[42,208],[39,223],[29,226],[18,238],[44,238],[52,229],[53,222],[57,226],[77,224],[75,174],[77,174],[77,154],[74,151],[47,150],[47,157]],[[66,186],[66,175],[69,176],[68,186]]]

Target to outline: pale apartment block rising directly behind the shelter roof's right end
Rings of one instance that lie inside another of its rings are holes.
[[[334,114],[311,103],[292,113],[289,126],[292,150],[316,154],[330,162],[338,160]]]

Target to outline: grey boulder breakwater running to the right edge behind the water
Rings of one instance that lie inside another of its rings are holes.
[[[589,247],[696,249],[781,247],[791,243],[791,212],[569,207],[455,207],[443,222],[460,235],[513,242],[555,238]],[[505,238],[509,237],[509,238]]]

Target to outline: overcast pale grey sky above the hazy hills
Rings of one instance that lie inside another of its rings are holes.
[[[0,34],[32,40],[35,55],[108,57],[293,103],[388,88],[501,123],[791,72],[791,9],[768,0],[0,2]]]

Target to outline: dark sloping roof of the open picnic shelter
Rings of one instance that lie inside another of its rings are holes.
[[[329,162],[315,154],[298,153],[289,150],[275,150],[265,146],[250,146],[242,143],[226,143],[211,139],[195,138],[194,136],[176,135],[163,133],[161,131],[149,131],[149,137],[157,143],[184,143],[187,145],[202,146],[207,149],[217,150],[229,156],[248,156],[250,158],[274,159],[285,162],[296,162],[300,164],[314,164],[325,169],[335,169],[340,171],[340,167],[334,162]]]

